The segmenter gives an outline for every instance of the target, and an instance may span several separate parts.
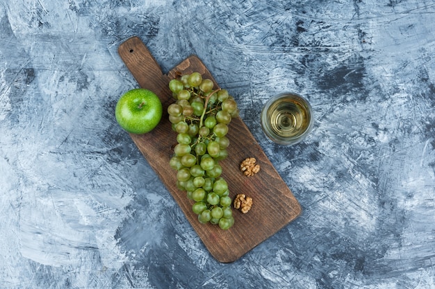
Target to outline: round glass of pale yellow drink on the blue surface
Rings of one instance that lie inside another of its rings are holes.
[[[284,146],[304,140],[313,126],[313,110],[302,96],[285,92],[270,98],[261,111],[266,136]]]

